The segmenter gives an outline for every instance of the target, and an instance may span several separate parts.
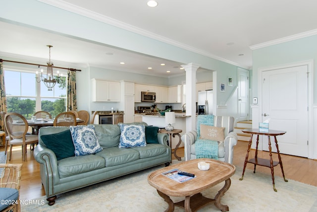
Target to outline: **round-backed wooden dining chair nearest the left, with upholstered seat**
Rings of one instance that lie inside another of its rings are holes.
[[[26,145],[37,144],[39,137],[37,135],[27,134],[29,125],[27,120],[19,113],[7,113],[4,116],[4,123],[6,130],[9,134],[10,149],[9,149],[9,161],[11,161],[12,146],[22,146],[22,158],[25,161],[26,158]]]

